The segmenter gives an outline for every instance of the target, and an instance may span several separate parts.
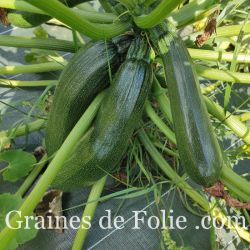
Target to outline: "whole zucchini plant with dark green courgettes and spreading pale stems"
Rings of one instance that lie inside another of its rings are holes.
[[[17,194],[24,196],[45,161],[48,166],[27,197],[18,200],[21,220],[32,214],[48,188],[72,191],[93,185],[83,213],[92,218],[109,176],[128,186],[127,191],[119,191],[126,198],[152,190],[157,196],[156,187],[171,182],[250,242],[250,233],[231,224],[223,209],[231,206],[249,219],[245,209],[250,207],[250,182],[232,167],[240,157],[249,158],[250,131],[245,122],[249,111],[228,110],[229,87],[225,107],[209,96],[213,91],[223,93],[224,82],[250,84],[246,67],[250,54],[243,43],[250,33],[249,14],[247,7],[237,11],[244,1],[101,0],[105,13],[83,2],[88,1],[0,1],[15,26],[28,28],[56,18],[72,29],[73,37],[65,41],[0,35],[1,46],[75,53],[68,61],[0,67],[3,74],[61,71],[58,80],[0,80],[11,87],[56,85],[49,114],[26,125],[30,131],[45,127],[47,155],[36,170],[26,169],[25,175],[30,174]],[[187,25],[201,29],[200,33],[180,35]],[[82,35],[91,41],[83,44]],[[203,45],[205,49],[200,48]],[[199,77],[213,82],[204,87]],[[247,101],[241,106],[246,107]],[[24,125],[0,132],[3,154],[8,154],[15,137],[26,132]],[[231,162],[218,140],[225,133],[244,142],[241,154]],[[114,175],[124,165],[125,181]],[[13,216],[11,225],[17,220]],[[0,249],[11,248],[17,230],[1,229]],[[86,233],[79,229],[73,249],[82,249]]]

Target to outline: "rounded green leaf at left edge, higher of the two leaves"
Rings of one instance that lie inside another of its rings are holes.
[[[2,172],[3,179],[10,182],[16,182],[21,177],[28,175],[34,164],[36,164],[34,155],[22,150],[9,150],[0,153],[1,161],[8,163]]]

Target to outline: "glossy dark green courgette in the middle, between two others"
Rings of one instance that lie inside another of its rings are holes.
[[[53,186],[77,189],[114,170],[138,126],[151,83],[150,48],[144,38],[138,38],[116,73],[93,127],[76,145]]]

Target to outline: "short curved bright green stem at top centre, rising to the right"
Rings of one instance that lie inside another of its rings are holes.
[[[170,13],[183,2],[183,0],[162,0],[160,4],[149,14],[134,17],[136,25],[143,29],[149,29],[161,23]]]

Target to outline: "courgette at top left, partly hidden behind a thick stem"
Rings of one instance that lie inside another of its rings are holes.
[[[74,7],[78,4],[87,2],[89,0],[60,0],[68,7]],[[19,28],[32,28],[46,23],[51,19],[48,15],[42,15],[37,13],[30,13],[20,10],[9,10],[8,11],[8,21],[16,27]]]

